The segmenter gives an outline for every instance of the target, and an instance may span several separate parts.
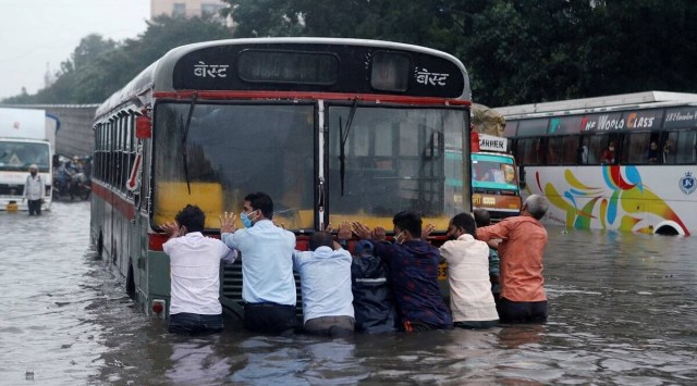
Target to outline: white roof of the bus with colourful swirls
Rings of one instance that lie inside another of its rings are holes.
[[[496,108],[506,119],[536,117],[559,114],[583,114],[612,110],[649,109],[697,103],[697,94],[645,91],[596,98]]]

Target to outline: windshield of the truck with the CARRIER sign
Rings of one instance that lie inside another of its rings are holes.
[[[473,188],[517,190],[513,158],[497,154],[472,154]]]

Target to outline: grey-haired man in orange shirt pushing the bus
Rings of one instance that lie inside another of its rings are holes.
[[[477,229],[482,241],[501,239],[501,299],[497,306],[502,323],[547,321],[547,296],[542,277],[542,251],[547,231],[539,220],[549,203],[542,196],[525,200],[521,215]]]

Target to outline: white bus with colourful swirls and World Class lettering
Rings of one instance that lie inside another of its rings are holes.
[[[546,221],[688,236],[697,231],[697,95],[646,91],[497,109]]]

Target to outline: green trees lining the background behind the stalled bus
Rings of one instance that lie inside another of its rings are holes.
[[[209,18],[160,16],[137,39],[90,35],[57,80],[12,103],[94,103],[168,50],[229,37],[382,39],[449,52],[474,100],[510,105],[601,95],[697,92],[693,0],[224,0],[234,30]]]

